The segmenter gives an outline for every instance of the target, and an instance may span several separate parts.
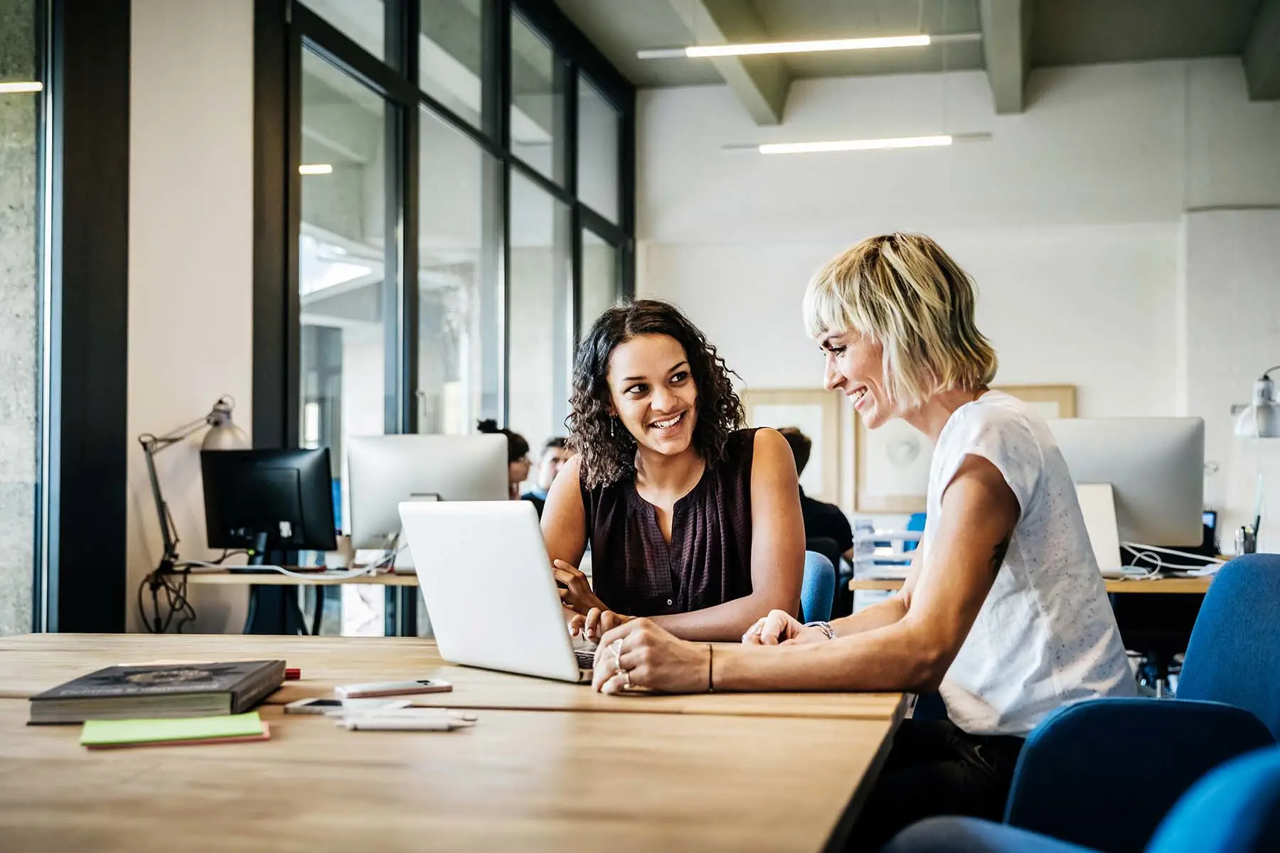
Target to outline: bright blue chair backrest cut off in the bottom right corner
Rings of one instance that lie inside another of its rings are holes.
[[[1280,850],[1280,747],[1233,758],[1169,812],[1147,853]]]

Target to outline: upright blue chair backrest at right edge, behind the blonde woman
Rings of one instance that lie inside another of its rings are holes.
[[[1219,569],[1187,646],[1178,698],[1252,711],[1280,738],[1280,554],[1249,554]]]

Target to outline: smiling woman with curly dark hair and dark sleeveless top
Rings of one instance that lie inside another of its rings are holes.
[[[570,445],[543,536],[589,637],[653,616],[678,637],[736,641],[796,613],[804,523],[774,430],[744,430],[716,348],[675,306],[605,311],[573,362]],[[577,570],[590,544],[593,584]]]

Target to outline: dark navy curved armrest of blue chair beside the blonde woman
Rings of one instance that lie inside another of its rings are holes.
[[[1275,738],[1248,711],[1190,700],[1092,700],[1023,747],[1005,822],[1107,853],[1139,853],[1197,779]]]

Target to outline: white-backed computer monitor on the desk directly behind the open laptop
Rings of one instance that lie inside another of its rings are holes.
[[[375,435],[347,440],[351,544],[387,549],[401,501],[507,500],[503,435]]]

